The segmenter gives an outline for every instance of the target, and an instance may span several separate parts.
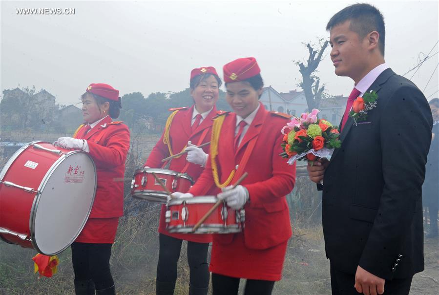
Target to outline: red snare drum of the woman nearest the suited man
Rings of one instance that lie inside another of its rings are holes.
[[[218,201],[216,196],[197,196],[170,200],[166,211],[168,232],[192,233],[197,222]],[[194,233],[233,233],[241,232],[244,226],[245,211],[235,211],[224,203],[205,220]]]

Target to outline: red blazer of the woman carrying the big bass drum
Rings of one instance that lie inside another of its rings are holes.
[[[110,116],[84,135],[84,127],[75,138],[85,139],[89,155],[96,165],[97,189],[89,218],[109,218],[124,215],[123,178],[126,154],[129,149],[129,129],[122,122],[111,122]]]

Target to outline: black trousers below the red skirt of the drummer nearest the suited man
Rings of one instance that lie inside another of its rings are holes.
[[[213,295],[237,295],[240,278],[212,274]],[[246,282],[245,295],[271,295],[274,281],[251,280]]]

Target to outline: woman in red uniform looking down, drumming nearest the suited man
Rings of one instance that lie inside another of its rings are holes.
[[[232,209],[245,209],[243,232],[213,236],[214,295],[237,294],[240,278],[247,279],[245,294],[271,294],[274,282],[281,279],[292,234],[285,195],[293,190],[295,166],[279,156],[280,130],[289,116],[269,112],[259,103],[263,86],[259,72],[254,58],[224,66],[226,99],[234,112],[214,119],[212,130],[218,134],[212,134],[206,169],[189,190],[196,196],[222,188],[218,198]],[[231,189],[244,172],[248,177]]]

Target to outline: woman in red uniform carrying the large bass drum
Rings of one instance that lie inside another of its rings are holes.
[[[97,190],[84,229],[72,244],[75,294],[116,294],[109,259],[119,217],[124,214],[125,159],[129,130],[119,117],[119,90],[108,84],[90,84],[82,95],[85,124],[72,137],[61,137],[63,148],[87,152],[97,169]]]

